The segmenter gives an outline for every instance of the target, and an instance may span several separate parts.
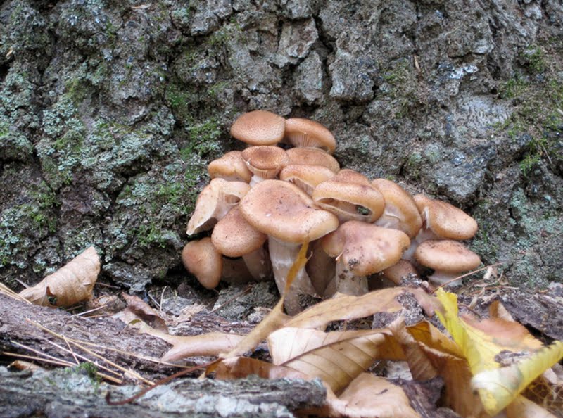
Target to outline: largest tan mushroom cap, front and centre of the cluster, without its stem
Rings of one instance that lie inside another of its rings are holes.
[[[249,224],[280,241],[302,243],[318,239],[339,226],[326,210],[294,184],[264,180],[244,196],[240,209]]]

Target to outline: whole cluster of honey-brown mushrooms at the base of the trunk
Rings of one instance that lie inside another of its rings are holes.
[[[254,110],[234,122],[231,135],[248,147],[209,164],[211,181],[186,232],[213,231],[182,251],[206,288],[273,275],[281,293],[305,241],[310,258],[285,296],[290,315],[301,310],[300,295],[367,293],[371,274],[400,284],[426,267],[434,270],[431,283],[444,284],[481,264],[460,242],[476,234],[472,217],[388,179],[341,169],[331,155],[336,140],[320,123]]]

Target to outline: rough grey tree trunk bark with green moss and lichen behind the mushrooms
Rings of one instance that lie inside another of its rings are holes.
[[[91,245],[133,291],[177,276],[205,165],[263,108],[472,213],[512,283],[560,281],[562,22],[553,0],[4,1],[1,280]]]

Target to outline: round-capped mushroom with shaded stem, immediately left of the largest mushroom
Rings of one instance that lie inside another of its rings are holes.
[[[217,251],[227,257],[242,257],[253,279],[258,281],[267,279],[272,272],[270,258],[263,248],[266,239],[266,234],[246,222],[238,206],[217,222],[211,234]]]

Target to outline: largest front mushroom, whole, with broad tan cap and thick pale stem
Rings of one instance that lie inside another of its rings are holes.
[[[326,210],[318,209],[311,198],[294,184],[281,180],[264,180],[244,196],[240,210],[255,229],[267,234],[274,279],[283,293],[287,273],[305,241],[313,241],[334,231],[339,221]],[[305,269],[296,275],[285,296],[290,315],[301,310],[298,294],[315,295]]]

